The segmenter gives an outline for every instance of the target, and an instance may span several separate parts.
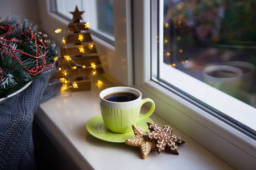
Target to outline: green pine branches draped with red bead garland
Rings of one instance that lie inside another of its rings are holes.
[[[57,47],[51,40],[43,44],[37,29],[30,20],[20,23],[16,16],[0,22],[0,97],[52,69]]]

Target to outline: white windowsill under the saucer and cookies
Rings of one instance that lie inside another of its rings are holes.
[[[104,84],[104,88],[113,86],[106,80]],[[88,165],[92,169],[233,169],[172,125],[173,133],[186,141],[179,146],[180,155],[151,151],[143,160],[137,147],[92,137],[85,125],[100,114],[101,90],[92,84],[90,91],[74,92],[70,97],[55,96],[41,104],[35,114],[40,128],[76,169],[88,169]],[[146,111],[143,107],[142,113]],[[155,113],[150,118],[160,127],[169,125]]]

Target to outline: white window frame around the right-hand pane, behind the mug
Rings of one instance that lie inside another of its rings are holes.
[[[150,39],[148,35],[152,33],[150,26],[155,25],[149,21],[157,17],[154,13],[157,3],[155,0],[151,2],[152,5],[149,1],[133,1],[133,16],[137,16],[133,18],[133,28],[142,28],[133,31],[135,88],[142,92],[143,98],[150,97],[155,101],[156,114],[213,154],[238,169],[253,167],[255,165],[253,155],[256,154],[254,139],[151,80],[151,74],[148,73],[151,73],[152,62],[157,62],[156,59],[151,61],[148,58],[150,55],[157,55],[154,51],[156,47],[154,44],[151,45],[151,42],[156,43],[154,42],[156,36],[152,35]],[[160,3],[163,1],[161,0]],[[151,8],[152,15],[147,8]],[[142,20],[144,22],[141,22]]]

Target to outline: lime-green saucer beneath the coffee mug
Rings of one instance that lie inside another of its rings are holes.
[[[148,131],[147,122],[154,123],[150,118],[147,117],[144,120],[137,122],[136,126],[139,126],[139,128],[141,128],[143,131]],[[101,114],[90,118],[90,120],[86,123],[86,129],[93,137],[108,142],[123,143],[126,141],[126,139],[134,137],[133,130],[127,133],[113,133],[112,131],[109,131],[102,120]]]

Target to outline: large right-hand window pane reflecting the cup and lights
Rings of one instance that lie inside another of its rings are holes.
[[[248,106],[243,112],[255,115],[255,7],[256,1],[160,1],[158,80],[191,88],[181,93],[196,99],[201,94],[199,103],[212,109],[220,104],[213,107],[204,99],[218,103],[231,96]]]

